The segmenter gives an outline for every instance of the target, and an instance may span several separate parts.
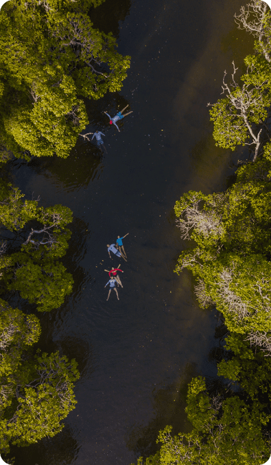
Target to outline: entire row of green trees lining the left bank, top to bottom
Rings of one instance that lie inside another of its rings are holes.
[[[72,212],[25,199],[9,167],[14,156],[69,156],[88,123],[83,98],[121,88],[130,58],[119,55],[113,35],[94,29],[88,16],[102,1],[9,0],[0,11],[2,454],[10,444],[56,435],[75,408],[77,363],[36,345],[38,312],[57,309],[72,291],[61,262]],[[14,300],[32,307],[24,313],[12,307]]]

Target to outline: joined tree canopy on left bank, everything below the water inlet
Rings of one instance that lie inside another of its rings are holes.
[[[9,299],[17,292],[38,311],[57,309],[73,285],[60,262],[71,236],[71,211],[25,200],[4,177],[0,185],[0,293]],[[76,403],[76,362],[34,350],[39,336],[36,315],[0,299],[1,453],[7,453],[10,444],[25,446],[54,436]]]

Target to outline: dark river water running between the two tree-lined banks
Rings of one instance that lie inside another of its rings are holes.
[[[40,315],[40,347],[78,361],[76,408],[61,433],[13,448],[16,465],[129,465],[156,450],[158,430],[187,431],[183,393],[191,377],[216,376],[214,311],[201,310],[189,273],[173,270],[185,247],[174,202],[189,189],[224,189],[233,154],[215,147],[208,102],[220,97],[224,69],[252,52],[233,15],[241,0],[106,0],[91,12],[132,57],[120,93],[86,102],[88,132],[102,130],[108,154],[82,138],[67,160],[14,163],[14,182],[40,204],[73,211],[64,264],[73,294]],[[108,124],[127,104],[133,111]],[[241,152],[238,156],[242,156]],[[235,160],[237,156],[235,155]],[[128,262],[110,260],[123,236]],[[108,302],[108,274],[121,263],[123,289]]]

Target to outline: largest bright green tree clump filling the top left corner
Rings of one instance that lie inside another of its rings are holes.
[[[0,11],[0,136],[15,156],[69,156],[84,102],[121,88],[130,57],[87,12],[102,1],[10,0]]]

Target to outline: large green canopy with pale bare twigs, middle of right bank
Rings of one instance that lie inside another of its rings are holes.
[[[215,304],[236,333],[271,331],[269,169],[267,160],[241,167],[226,193],[190,191],[175,206],[182,237],[196,241],[175,271],[191,270],[200,305]]]

